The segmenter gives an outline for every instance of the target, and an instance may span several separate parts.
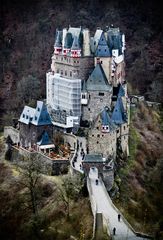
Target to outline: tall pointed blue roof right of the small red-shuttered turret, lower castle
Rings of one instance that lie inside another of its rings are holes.
[[[121,97],[117,98],[111,119],[115,124],[123,124],[126,122],[126,115]]]

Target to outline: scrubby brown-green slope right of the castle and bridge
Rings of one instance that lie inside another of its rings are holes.
[[[137,230],[154,235],[163,233],[162,123],[162,111],[145,104],[133,110],[130,157],[116,176],[120,195],[115,202]]]

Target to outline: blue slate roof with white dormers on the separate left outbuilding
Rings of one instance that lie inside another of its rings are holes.
[[[19,122],[36,126],[52,124],[46,105],[42,101],[37,101],[36,108],[25,106]]]

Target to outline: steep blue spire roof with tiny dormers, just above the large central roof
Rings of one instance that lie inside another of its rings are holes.
[[[101,34],[100,40],[98,42],[96,52],[96,57],[111,57],[111,51],[108,47],[104,32]]]

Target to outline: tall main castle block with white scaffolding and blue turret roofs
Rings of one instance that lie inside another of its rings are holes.
[[[128,153],[129,101],[125,36],[115,27],[56,30],[46,103],[53,125],[64,131],[89,127],[89,153]]]

